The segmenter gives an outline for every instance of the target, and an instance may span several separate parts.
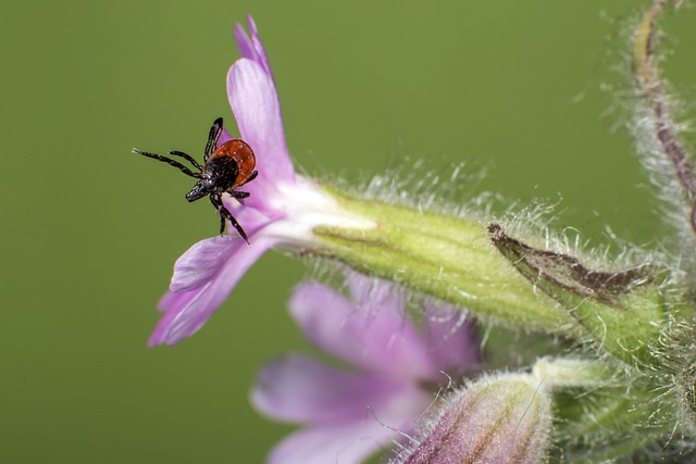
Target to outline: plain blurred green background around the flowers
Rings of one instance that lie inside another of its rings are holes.
[[[365,179],[400,159],[562,202],[606,241],[663,230],[610,111],[639,1],[63,1],[2,8],[0,462],[261,462],[289,426],[248,403],[256,372],[307,349],[285,301],[301,262],[265,255],[195,337],[148,349],[172,264],[215,234],[191,181],[129,153],[199,153],[232,126],[232,27],[251,13],[287,138],[309,173]],[[668,15],[689,98],[696,13]]]

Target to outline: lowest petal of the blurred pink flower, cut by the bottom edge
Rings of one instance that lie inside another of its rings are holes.
[[[391,449],[399,425],[380,423],[374,417],[364,422],[318,426],[299,430],[273,449],[269,464],[359,464],[366,457]]]

